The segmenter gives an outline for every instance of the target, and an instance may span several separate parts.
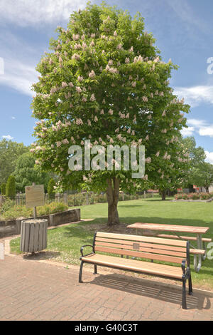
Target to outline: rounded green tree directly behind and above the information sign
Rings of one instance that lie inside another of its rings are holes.
[[[13,175],[16,177],[16,189],[19,192],[25,192],[25,186],[32,185],[33,182],[45,185],[47,190],[50,180],[50,173],[43,172],[40,166],[35,165],[32,153],[24,153],[18,158]]]

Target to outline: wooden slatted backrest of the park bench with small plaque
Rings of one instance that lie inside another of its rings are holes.
[[[94,252],[158,259],[164,262],[181,264],[183,259],[187,259],[189,263],[189,247],[189,242],[175,239],[108,232],[94,234]]]

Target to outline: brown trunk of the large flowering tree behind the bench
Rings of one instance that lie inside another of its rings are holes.
[[[107,201],[108,201],[108,222],[109,226],[119,225],[119,212],[117,205],[119,202],[120,180],[116,177],[107,179]]]

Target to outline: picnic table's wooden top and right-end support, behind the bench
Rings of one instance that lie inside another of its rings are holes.
[[[171,232],[172,234],[175,233],[176,237],[180,239],[182,239],[182,237],[178,233],[186,232],[190,234],[195,234],[196,239],[197,239],[197,249],[204,249],[202,245],[202,234],[205,234],[209,230],[209,227],[164,225],[160,223],[158,224],[158,223],[143,223],[143,222],[133,223],[133,225],[128,225],[127,228],[136,229],[137,234],[138,234],[138,230],[153,230],[153,231]],[[197,264],[197,257],[198,257],[198,264]],[[206,256],[204,255],[204,258],[205,257]],[[198,254],[197,256],[195,255],[194,265],[195,265],[195,270],[199,272],[202,266],[202,255],[201,254]]]

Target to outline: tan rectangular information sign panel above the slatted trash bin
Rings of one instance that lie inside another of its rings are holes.
[[[45,205],[43,185],[26,186],[25,193],[27,208]]]

